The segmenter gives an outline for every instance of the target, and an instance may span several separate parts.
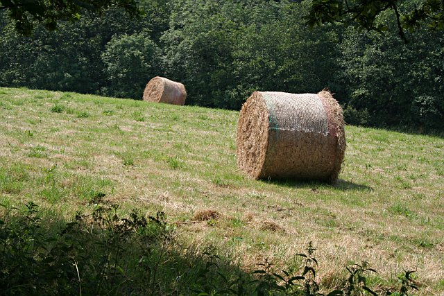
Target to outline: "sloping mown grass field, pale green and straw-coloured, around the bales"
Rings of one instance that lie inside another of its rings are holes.
[[[245,268],[288,265],[312,241],[327,286],[365,260],[375,284],[410,269],[418,295],[443,295],[443,138],[347,126],[334,186],[257,181],[237,170],[238,116],[1,88],[0,203],[33,200],[68,219],[105,193],[123,211],[164,211],[180,239],[227,250]],[[195,218],[207,210],[219,218]]]

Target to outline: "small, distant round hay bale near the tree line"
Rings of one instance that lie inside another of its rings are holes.
[[[155,103],[183,105],[185,98],[187,91],[182,83],[157,76],[146,85],[143,99]]]

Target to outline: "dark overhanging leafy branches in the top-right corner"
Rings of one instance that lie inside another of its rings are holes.
[[[444,1],[400,1],[400,0],[313,0],[308,24],[333,23],[365,28],[368,31],[386,31],[388,24],[377,21],[378,15],[391,10],[398,25],[398,33],[407,42],[405,30],[427,26],[432,31],[444,30]]]

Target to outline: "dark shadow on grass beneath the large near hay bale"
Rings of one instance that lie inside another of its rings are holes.
[[[347,180],[338,179],[334,184],[321,181],[296,181],[296,180],[259,180],[267,184],[304,189],[339,189],[341,191],[373,191],[370,186],[357,184]]]

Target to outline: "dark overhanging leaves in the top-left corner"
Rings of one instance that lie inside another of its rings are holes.
[[[36,24],[54,30],[58,21],[75,21],[83,13],[102,12],[112,6],[132,16],[142,15],[135,0],[0,0],[0,11],[7,10],[17,31],[24,35],[30,35]]]

